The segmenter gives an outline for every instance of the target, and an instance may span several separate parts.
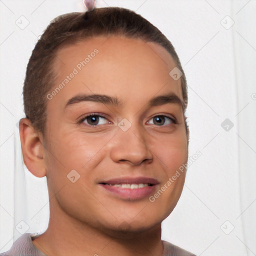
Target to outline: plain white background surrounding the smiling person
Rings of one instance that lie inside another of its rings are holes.
[[[162,239],[196,255],[256,255],[256,1],[98,0],[96,7],[107,5],[135,10],[158,27],[187,78],[189,156],[202,155],[162,222]],[[27,232],[48,224],[46,178],[22,164],[16,123],[37,36],[72,11],[84,11],[80,0],[0,0],[0,252],[21,235],[21,220]],[[20,29],[22,15],[29,24]],[[234,125],[228,131],[226,118]]]

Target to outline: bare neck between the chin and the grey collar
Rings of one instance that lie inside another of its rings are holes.
[[[160,256],[163,253],[161,223],[143,231],[123,232],[81,222],[53,205],[50,209],[47,230],[32,241],[46,255]]]

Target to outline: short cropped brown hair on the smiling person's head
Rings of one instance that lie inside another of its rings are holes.
[[[24,112],[34,128],[44,135],[46,123],[46,95],[54,86],[52,63],[56,51],[92,36],[124,35],[155,42],[163,46],[172,56],[182,72],[181,88],[187,107],[186,78],[179,58],[171,42],[148,20],[132,10],[121,7],[94,8],[92,11],[71,12],[54,18],[35,44],[29,58],[23,86]],[[186,119],[186,117],[185,117]],[[185,120],[187,141],[189,131]]]

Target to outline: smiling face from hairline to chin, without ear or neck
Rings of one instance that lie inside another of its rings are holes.
[[[43,155],[52,209],[102,230],[159,224],[179,199],[185,172],[172,176],[188,157],[170,54],[121,36],[56,54]]]

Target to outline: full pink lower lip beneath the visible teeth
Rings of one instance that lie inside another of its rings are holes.
[[[155,191],[156,185],[152,186],[144,186],[141,188],[122,188],[118,186],[113,186],[113,185],[104,185],[104,184],[99,184],[101,187],[104,189],[110,191],[113,194],[118,195],[119,197],[123,199],[129,199],[129,200],[136,200],[136,199],[142,199],[146,196],[149,196]]]

